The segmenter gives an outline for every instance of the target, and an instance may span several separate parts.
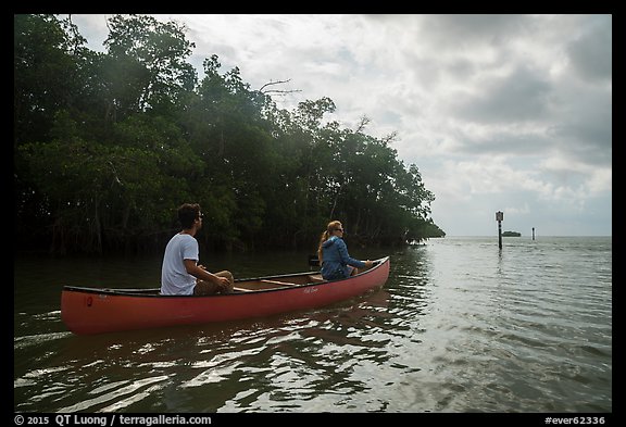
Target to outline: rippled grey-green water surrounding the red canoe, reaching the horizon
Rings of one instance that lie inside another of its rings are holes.
[[[351,250],[359,258],[386,253]],[[320,310],[75,336],[63,285],[153,287],[161,259],[14,262],[15,412],[612,412],[612,241],[433,239]],[[204,256],[238,277],[306,253]]]

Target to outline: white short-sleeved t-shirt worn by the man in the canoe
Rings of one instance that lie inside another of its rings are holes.
[[[190,296],[193,293],[196,277],[187,273],[183,260],[198,262],[198,240],[193,236],[177,234],[165,247],[161,267],[161,294]]]

